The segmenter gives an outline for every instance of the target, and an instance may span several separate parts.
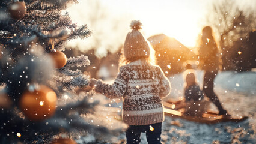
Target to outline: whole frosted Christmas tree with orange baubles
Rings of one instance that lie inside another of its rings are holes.
[[[74,67],[90,61],[84,55],[67,59],[62,52],[67,41],[91,35],[86,25],[62,14],[75,2],[0,2],[0,143],[75,143],[55,138],[78,131],[108,133],[81,118],[99,103],[88,100],[93,92],[75,92],[88,85],[88,76]]]

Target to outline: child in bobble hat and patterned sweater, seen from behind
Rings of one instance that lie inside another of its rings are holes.
[[[141,23],[132,21],[132,31],[124,42],[126,65],[120,67],[112,85],[102,80],[90,80],[96,92],[108,98],[123,98],[123,122],[127,144],[139,143],[145,132],[148,143],[160,143],[164,120],[162,98],[169,95],[171,85],[161,68],[152,64],[153,50],[141,34]]]

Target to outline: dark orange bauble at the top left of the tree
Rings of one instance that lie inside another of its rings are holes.
[[[8,11],[13,19],[22,19],[26,14],[25,2],[14,2],[10,4]]]

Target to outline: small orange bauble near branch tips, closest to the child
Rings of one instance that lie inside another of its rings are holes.
[[[63,53],[61,51],[56,51],[56,52],[50,53],[50,55],[52,56],[53,60],[55,61],[56,68],[62,68],[62,67],[64,67],[64,65],[66,65],[67,56],[65,55],[65,53]]]

